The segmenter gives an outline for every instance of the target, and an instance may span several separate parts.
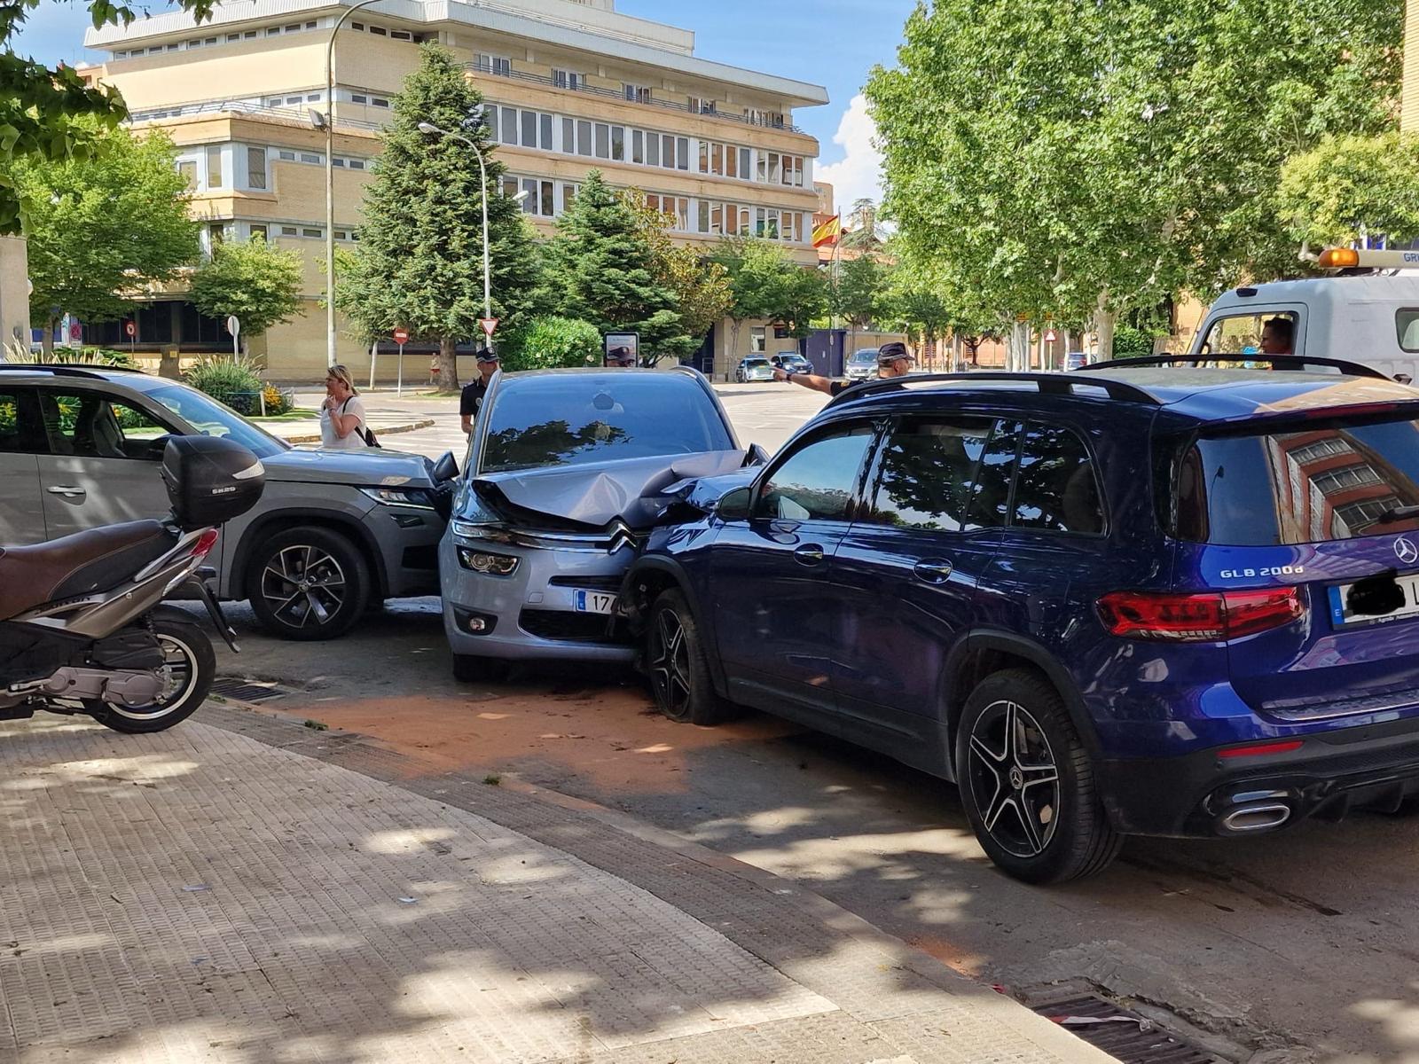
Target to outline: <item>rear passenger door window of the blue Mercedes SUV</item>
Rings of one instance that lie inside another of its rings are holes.
[[[902,419],[877,457],[870,519],[902,528],[964,529],[971,481],[990,424],[986,417]]]

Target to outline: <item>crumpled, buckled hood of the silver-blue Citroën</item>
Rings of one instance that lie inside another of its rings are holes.
[[[519,511],[587,528],[604,528],[617,518],[631,528],[646,528],[664,511],[668,488],[738,470],[745,457],[745,451],[707,451],[553,465],[482,474],[473,480],[473,487],[484,498],[501,495]]]

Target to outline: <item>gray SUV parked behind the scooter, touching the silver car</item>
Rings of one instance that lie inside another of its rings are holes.
[[[332,638],[372,603],[438,592],[451,457],[308,451],[196,389],[131,370],[0,363],[0,543],[169,509],[169,436],[221,436],[265,465],[261,502],[209,555],[217,594],[271,633]]]

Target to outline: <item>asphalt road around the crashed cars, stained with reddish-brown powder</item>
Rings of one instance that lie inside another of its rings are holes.
[[[742,440],[772,450],[822,403],[762,384],[727,387],[725,404]],[[451,416],[400,445],[434,454],[460,436]],[[983,982],[1097,987],[1257,1064],[1419,1061],[1419,819],[1131,840],[1100,877],[1030,888],[985,860],[951,786],[773,718],[673,725],[639,677],[576,665],[458,685],[434,600],[311,645],[231,613],[245,653],[223,653],[223,670],[284,681],[275,709],[375,735],[430,772],[475,767],[629,811]]]

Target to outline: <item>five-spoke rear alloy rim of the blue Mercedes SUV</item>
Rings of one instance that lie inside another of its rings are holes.
[[[1007,699],[988,705],[971,728],[966,783],[981,823],[1015,857],[1039,857],[1054,837],[1060,775],[1030,712]]]

